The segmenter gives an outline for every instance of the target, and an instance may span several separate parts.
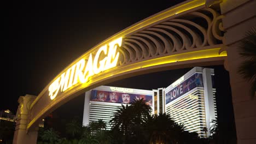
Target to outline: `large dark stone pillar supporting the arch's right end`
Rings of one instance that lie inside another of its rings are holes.
[[[239,65],[245,60],[239,55],[238,44],[245,38],[245,33],[256,26],[255,8],[256,1],[250,0],[223,0],[220,3],[224,15],[223,43],[228,53],[225,68],[230,75],[237,143],[243,144],[256,143],[256,99],[249,95],[251,83],[237,73]]]

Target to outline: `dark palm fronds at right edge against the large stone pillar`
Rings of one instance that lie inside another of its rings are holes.
[[[238,67],[238,73],[252,83],[250,92],[253,98],[256,95],[256,27],[246,33],[246,38],[240,42],[239,50],[240,55],[246,59]]]

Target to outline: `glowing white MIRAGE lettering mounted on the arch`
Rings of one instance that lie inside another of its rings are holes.
[[[82,58],[80,61],[69,67],[49,86],[50,98],[53,100],[56,98],[59,91],[65,92],[68,88],[71,88],[78,83],[88,82],[90,76],[114,68],[117,65],[119,58],[117,47],[120,47],[121,44],[122,37],[100,47],[94,58],[92,58],[92,53],[90,53],[88,60]]]

